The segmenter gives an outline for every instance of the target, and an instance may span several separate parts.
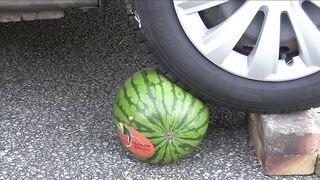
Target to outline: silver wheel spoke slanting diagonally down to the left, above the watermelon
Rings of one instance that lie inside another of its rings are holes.
[[[245,3],[235,14],[218,27],[209,29],[203,43],[207,50],[207,56],[216,64],[221,64],[238,43],[260,6],[255,2]]]

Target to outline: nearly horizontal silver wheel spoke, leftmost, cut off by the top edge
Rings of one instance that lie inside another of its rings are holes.
[[[177,0],[176,0],[177,1]],[[212,1],[212,0],[205,0],[205,1],[198,1],[198,0],[187,0],[185,2],[181,2],[178,4],[180,8],[182,8],[186,14],[197,13],[199,11],[203,11],[205,9],[212,8],[214,6],[218,6],[227,2],[228,0],[220,0],[220,1]]]

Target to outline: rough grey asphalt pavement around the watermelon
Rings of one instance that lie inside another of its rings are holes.
[[[316,179],[268,177],[245,114],[210,107],[200,147],[169,165],[135,160],[111,120],[117,88],[153,61],[122,2],[104,12],[0,24],[0,179]]]

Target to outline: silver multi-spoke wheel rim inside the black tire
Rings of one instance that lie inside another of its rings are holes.
[[[193,45],[232,74],[288,81],[320,70],[319,1],[173,2]]]

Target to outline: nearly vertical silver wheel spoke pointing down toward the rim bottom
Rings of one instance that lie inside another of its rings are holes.
[[[279,62],[280,20],[279,11],[269,9],[265,13],[260,37],[248,56],[248,77],[265,79],[276,73]]]

